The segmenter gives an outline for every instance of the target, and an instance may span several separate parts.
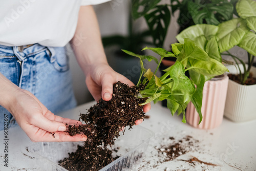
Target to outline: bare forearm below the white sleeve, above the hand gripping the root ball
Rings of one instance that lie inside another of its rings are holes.
[[[71,40],[77,61],[87,74],[94,63],[107,64],[97,17],[92,6],[81,6],[75,36]]]

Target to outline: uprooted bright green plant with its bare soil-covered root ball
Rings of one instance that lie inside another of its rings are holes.
[[[144,104],[151,101],[167,99],[168,108],[174,115],[176,112],[183,114],[182,122],[186,122],[185,108],[191,100],[199,113],[200,121],[201,104],[202,104],[202,89],[205,82],[205,76],[221,75],[227,71],[226,67],[216,59],[208,56],[203,49],[195,44],[190,39],[184,39],[183,44],[173,44],[173,52],[168,52],[162,48],[144,48],[143,50],[152,50],[161,58],[160,61],[156,57],[150,55],[138,55],[130,51],[123,50],[125,53],[138,57],[141,65],[140,78],[137,86],[129,88],[121,82],[117,82],[113,86],[113,97],[110,101],[99,102],[92,106],[88,114],[81,114],[80,119],[86,124],[69,125],[70,135],[84,133],[88,136],[88,140],[84,142],[83,147],[79,147],[78,151],[71,153],[69,158],[61,160],[63,166],[76,169],[80,167],[86,170],[98,170],[102,165],[98,163],[98,157],[110,159],[111,151],[106,148],[108,145],[113,145],[115,139],[119,136],[119,131],[122,127],[130,125],[130,128],[135,124],[137,119],[144,116],[142,108]],[[163,58],[176,57],[175,65],[165,70],[165,74],[157,77],[156,71]],[[158,63],[157,69],[152,72],[151,69],[146,70],[143,65],[144,60],[154,60]],[[195,70],[196,68],[196,70]],[[195,87],[194,80],[185,76],[185,71],[195,70],[195,73],[200,74],[200,79],[197,80]],[[142,76],[144,78],[142,79]],[[85,150],[85,151],[84,151]],[[79,155],[84,152],[90,155]],[[100,154],[99,154],[100,153]],[[91,156],[91,154],[93,156]],[[102,155],[108,155],[106,157]],[[81,161],[90,159],[92,168],[87,168],[89,164],[82,164]],[[94,164],[95,162],[95,164]],[[75,163],[75,164],[74,164]]]

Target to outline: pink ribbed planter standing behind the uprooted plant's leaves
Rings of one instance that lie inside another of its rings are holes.
[[[212,78],[205,82],[203,89],[202,115],[203,120],[199,123],[199,115],[193,103],[189,103],[186,110],[186,120],[199,129],[214,129],[223,120],[225,101],[228,87],[228,76]]]

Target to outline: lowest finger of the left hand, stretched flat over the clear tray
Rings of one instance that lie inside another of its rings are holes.
[[[43,130],[42,130],[43,131]],[[31,139],[34,142],[67,142],[67,141],[86,141],[87,136],[84,134],[78,134],[75,136],[70,136],[67,132],[46,132],[43,136],[38,136],[37,134],[34,139]]]

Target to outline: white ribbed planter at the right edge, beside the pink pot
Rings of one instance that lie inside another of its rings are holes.
[[[251,72],[256,76],[256,68]],[[229,80],[224,116],[234,122],[256,119],[256,85],[244,86]]]

